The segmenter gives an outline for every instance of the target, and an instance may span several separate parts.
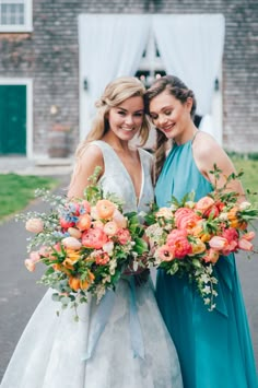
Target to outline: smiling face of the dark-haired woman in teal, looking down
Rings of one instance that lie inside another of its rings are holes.
[[[164,91],[150,102],[150,117],[153,125],[160,129],[167,139],[177,139],[184,136],[189,124],[192,99],[181,103],[169,92]]]

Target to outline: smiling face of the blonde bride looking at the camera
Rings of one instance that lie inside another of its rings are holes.
[[[144,115],[143,98],[134,96],[110,108],[107,119],[109,130],[120,140],[129,141],[140,130]]]

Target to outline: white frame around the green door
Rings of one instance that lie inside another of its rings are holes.
[[[33,158],[33,80],[28,78],[0,78],[0,85],[26,86],[26,154]]]

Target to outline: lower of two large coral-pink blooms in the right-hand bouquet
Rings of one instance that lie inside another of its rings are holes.
[[[192,252],[192,247],[187,239],[187,232],[174,230],[167,236],[167,246],[173,251],[175,258],[181,259]]]

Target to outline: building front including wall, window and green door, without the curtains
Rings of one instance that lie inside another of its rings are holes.
[[[224,15],[216,80],[222,145],[258,152],[256,0],[0,0],[0,156],[36,160],[73,154],[83,121],[79,15],[109,13]]]

